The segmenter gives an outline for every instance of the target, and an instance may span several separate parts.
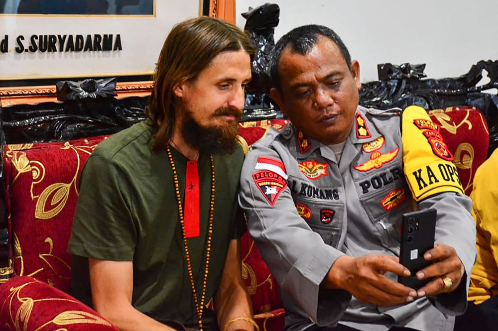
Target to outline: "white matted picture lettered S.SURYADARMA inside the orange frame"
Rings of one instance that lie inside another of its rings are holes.
[[[0,0],[0,80],[152,74],[203,0]]]

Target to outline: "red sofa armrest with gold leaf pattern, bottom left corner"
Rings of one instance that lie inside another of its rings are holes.
[[[43,326],[50,330],[118,331],[70,295],[24,276],[1,284],[0,321],[0,328],[6,330],[39,330]]]

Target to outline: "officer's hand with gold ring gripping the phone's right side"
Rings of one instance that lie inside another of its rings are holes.
[[[424,258],[434,261],[434,263],[417,271],[415,275],[418,279],[434,279],[418,289],[419,297],[452,292],[458,287],[465,273],[465,268],[455,248],[438,243],[424,254]],[[445,278],[446,280],[443,280]]]

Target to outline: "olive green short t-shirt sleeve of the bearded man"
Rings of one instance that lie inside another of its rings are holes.
[[[85,163],[68,251],[113,261],[132,261],[136,230],[125,176],[92,155]]]

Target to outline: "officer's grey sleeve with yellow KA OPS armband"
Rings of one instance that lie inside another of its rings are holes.
[[[404,173],[420,209],[437,210],[436,243],[455,248],[465,267],[460,286],[431,298],[441,312],[460,315],[467,307],[470,274],[476,261],[476,224],[472,202],[464,195],[453,155],[443,141],[439,125],[427,112],[410,106],[402,115]]]

